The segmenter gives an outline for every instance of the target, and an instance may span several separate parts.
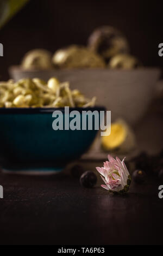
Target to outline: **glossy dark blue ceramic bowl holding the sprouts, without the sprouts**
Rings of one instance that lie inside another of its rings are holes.
[[[59,172],[68,162],[78,159],[90,147],[97,130],[53,130],[54,110],[0,109],[0,165],[4,171],[24,174]],[[96,108],[70,108],[105,110]],[[73,119],[73,118],[72,118]],[[70,118],[71,121],[71,118]]]

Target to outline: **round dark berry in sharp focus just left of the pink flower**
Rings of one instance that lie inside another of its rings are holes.
[[[97,183],[97,176],[92,171],[85,171],[80,177],[80,184],[85,188],[92,188]]]

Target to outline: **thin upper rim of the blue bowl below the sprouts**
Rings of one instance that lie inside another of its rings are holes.
[[[82,111],[105,111],[104,106],[95,106],[89,108],[69,108],[69,111],[77,110]],[[54,111],[65,112],[65,108],[0,108],[0,114],[48,114]]]

